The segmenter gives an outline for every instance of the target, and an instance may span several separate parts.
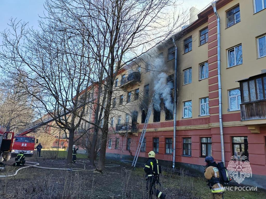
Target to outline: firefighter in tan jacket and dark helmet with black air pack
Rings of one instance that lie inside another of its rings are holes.
[[[209,199],[223,199],[223,192],[225,191],[220,181],[218,164],[214,161],[213,157],[207,156],[205,158],[206,169],[204,172],[205,178],[208,180],[208,186],[211,189]]]

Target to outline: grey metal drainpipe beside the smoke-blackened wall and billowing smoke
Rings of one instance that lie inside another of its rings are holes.
[[[173,43],[175,46],[175,51],[174,51],[174,140],[173,140],[173,169],[174,169],[174,163],[175,158],[176,158],[176,103],[177,103],[177,46],[176,43],[174,42],[174,37],[172,37]]]

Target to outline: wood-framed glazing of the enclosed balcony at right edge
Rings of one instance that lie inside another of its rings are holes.
[[[242,103],[266,99],[266,76],[244,81],[242,85]]]

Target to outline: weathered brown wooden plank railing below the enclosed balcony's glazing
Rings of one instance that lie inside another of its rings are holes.
[[[240,104],[241,120],[266,119],[266,100]]]

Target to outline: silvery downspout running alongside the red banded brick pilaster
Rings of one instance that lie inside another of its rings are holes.
[[[222,162],[225,162],[225,147],[223,140],[223,114],[222,114],[222,85],[221,85],[221,27],[220,17],[216,9],[216,1],[211,3],[214,14],[217,18],[217,65],[218,65],[218,98],[219,98],[219,126],[221,136],[221,155]]]

